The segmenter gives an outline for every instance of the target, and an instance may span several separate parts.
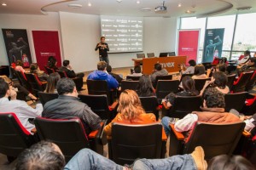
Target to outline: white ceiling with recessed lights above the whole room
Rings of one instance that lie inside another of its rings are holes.
[[[47,12],[70,12],[79,14],[124,15],[124,16],[210,16],[216,14],[236,14],[256,12],[256,0],[166,0],[167,13],[155,14],[154,8],[162,0],[0,0],[7,6],[0,5],[0,14],[47,14]],[[91,3],[91,6],[88,6]],[[178,3],[182,7],[177,7]],[[70,8],[68,4],[81,4],[82,8]],[[237,11],[236,8],[250,6],[252,9]],[[143,12],[141,8],[151,8]],[[185,14],[186,10],[195,14]]]

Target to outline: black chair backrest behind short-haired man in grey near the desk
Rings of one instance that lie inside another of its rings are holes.
[[[157,99],[164,99],[171,92],[176,94],[178,85],[178,80],[159,80],[155,90]]]

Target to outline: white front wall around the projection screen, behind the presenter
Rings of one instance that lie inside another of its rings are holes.
[[[70,59],[75,71],[96,70],[98,52],[94,50],[100,41],[100,16],[60,12],[61,37],[65,59]],[[144,53],[159,55],[175,51],[176,18],[144,18]],[[132,66],[136,53],[108,54],[113,68]]]

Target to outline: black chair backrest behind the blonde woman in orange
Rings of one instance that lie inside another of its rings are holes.
[[[114,122],[111,144],[112,159],[119,165],[124,165],[142,157],[148,159],[160,158],[161,136],[162,125],[160,122],[146,125],[128,125]]]

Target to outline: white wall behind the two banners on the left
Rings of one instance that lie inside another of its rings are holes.
[[[34,47],[32,43],[32,30],[60,31],[59,14],[0,14],[0,28],[26,29],[32,54],[32,61],[36,62]],[[3,41],[2,30],[0,32],[0,65],[9,65],[5,44]]]

